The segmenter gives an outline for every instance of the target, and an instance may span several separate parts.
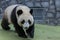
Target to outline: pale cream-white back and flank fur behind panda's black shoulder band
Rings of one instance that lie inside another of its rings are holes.
[[[6,18],[8,19],[8,22],[11,23],[11,13],[12,13],[12,10],[18,5],[11,5],[11,6],[8,6],[6,9],[5,9],[5,16]]]

